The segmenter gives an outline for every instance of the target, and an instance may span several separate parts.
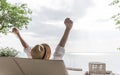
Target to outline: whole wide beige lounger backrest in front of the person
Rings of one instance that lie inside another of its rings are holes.
[[[62,60],[0,58],[0,75],[68,75]]]

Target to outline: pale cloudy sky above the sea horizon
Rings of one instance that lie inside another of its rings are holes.
[[[64,30],[64,19],[73,20],[73,28],[66,44],[66,52],[119,52],[120,31],[112,15],[117,7],[109,6],[110,0],[7,0],[26,3],[33,11],[28,29],[20,30],[22,37],[33,47],[48,43],[54,52]],[[0,46],[23,51],[13,33],[1,34]]]

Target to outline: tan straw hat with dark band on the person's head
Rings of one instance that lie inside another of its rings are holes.
[[[49,59],[51,49],[48,44],[35,45],[31,50],[33,59]]]

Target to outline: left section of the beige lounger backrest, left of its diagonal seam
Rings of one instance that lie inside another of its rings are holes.
[[[0,75],[23,75],[11,58],[0,57]]]

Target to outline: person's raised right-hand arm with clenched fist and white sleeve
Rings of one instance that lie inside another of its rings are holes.
[[[64,34],[63,34],[57,48],[55,49],[54,60],[62,60],[64,53],[65,53],[64,47],[66,45],[70,30],[73,26],[73,22],[72,22],[72,20],[70,20],[70,18],[66,18],[64,21],[64,24],[65,24],[66,28],[65,28]]]

